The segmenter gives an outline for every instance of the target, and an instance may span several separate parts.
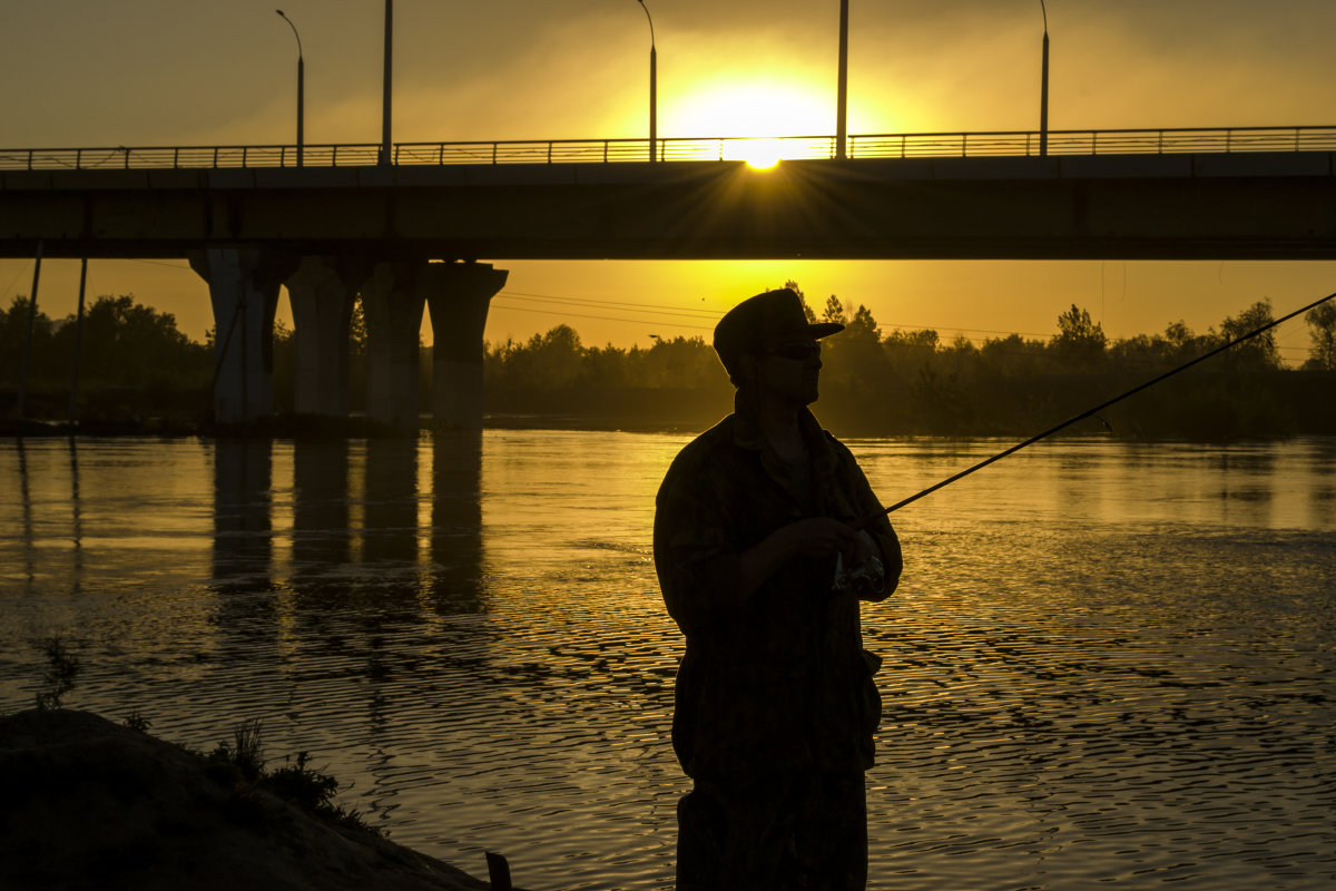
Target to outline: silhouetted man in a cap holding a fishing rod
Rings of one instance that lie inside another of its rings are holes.
[[[655,566],[687,636],[673,748],[679,891],[860,890],[863,771],[879,659],[859,600],[883,600],[900,549],[852,454],[820,429],[819,338],[792,290],[733,307],[715,350],[733,414],[691,442],[659,490]]]

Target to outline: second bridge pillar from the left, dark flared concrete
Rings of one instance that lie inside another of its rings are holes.
[[[285,282],[293,305],[298,414],[347,417],[349,327],[367,271],[338,256],[303,256]]]

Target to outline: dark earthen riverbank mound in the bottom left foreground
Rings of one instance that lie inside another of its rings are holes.
[[[0,717],[0,887],[492,887],[373,831],[223,781],[203,756],[91,712]]]

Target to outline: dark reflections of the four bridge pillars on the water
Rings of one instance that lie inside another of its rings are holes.
[[[219,438],[212,586],[251,621],[251,610],[278,601],[243,596],[283,589],[297,616],[477,612],[481,472],[477,431],[425,442],[310,438],[290,450],[271,439]],[[228,625],[230,609],[222,609]]]

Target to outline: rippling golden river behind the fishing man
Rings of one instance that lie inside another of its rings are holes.
[[[390,838],[538,891],[672,884],[688,437],[0,441],[0,709],[247,719]],[[882,500],[1009,442],[848,441]],[[1336,882],[1336,441],[1055,439],[892,516],[874,890]]]

